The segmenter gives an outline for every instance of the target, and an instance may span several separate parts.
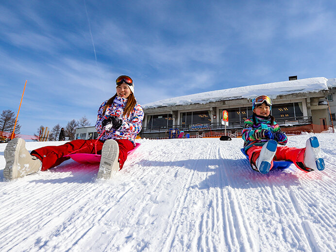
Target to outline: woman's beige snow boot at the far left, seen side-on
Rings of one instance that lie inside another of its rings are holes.
[[[26,142],[21,138],[12,139],[4,151],[6,166],[3,176],[16,179],[41,170],[42,162],[26,149]]]

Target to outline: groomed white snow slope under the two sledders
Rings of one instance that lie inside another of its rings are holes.
[[[336,134],[316,135],[323,171],[254,172],[241,138],[139,139],[109,181],[70,160],[5,181],[0,144],[0,251],[335,251]]]

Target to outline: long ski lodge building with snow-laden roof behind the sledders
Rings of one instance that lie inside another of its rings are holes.
[[[292,78],[293,79],[293,78]],[[273,102],[271,114],[282,130],[319,133],[328,130],[336,115],[336,79],[308,78],[209,91],[155,101],[143,105],[145,118],[140,136],[168,137],[169,129],[191,136],[223,134],[222,112],[226,110],[226,130],[240,134],[244,121],[252,115],[252,99],[268,95]],[[93,126],[78,128],[76,139],[96,138]]]

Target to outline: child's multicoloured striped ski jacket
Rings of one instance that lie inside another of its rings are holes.
[[[254,120],[253,120],[254,117]],[[244,127],[241,132],[242,138],[245,141],[244,142],[244,149],[245,152],[252,147],[253,145],[256,146],[263,146],[269,139],[265,137],[265,131],[269,130],[273,133],[275,132],[281,132],[285,134],[284,132],[281,131],[279,125],[274,121],[273,125],[270,123],[270,117],[267,118],[261,118],[258,117],[257,115],[253,115],[249,118],[247,118],[244,121]],[[286,135],[286,134],[285,134]],[[277,141],[277,139],[274,139]],[[281,145],[286,145],[287,143],[287,136],[285,139],[281,142],[278,142]]]

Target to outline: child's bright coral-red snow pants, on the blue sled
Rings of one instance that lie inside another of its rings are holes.
[[[255,161],[260,155],[260,151],[262,148],[263,148],[262,146],[252,146],[246,151],[246,154],[249,155],[250,162],[251,162],[251,158],[253,158],[252,163],[255,163]],[[270,168],[273,168],[273,161],[289,160],[289,161],[292,161],[297,168],[303,170],[304,172],[308,172],[308,170],[306,170],[306,168],[304,168],[303,166],[305,149],[306,148],[299,149],[299,148],[291,148],[287,146],[277,147],[274,158],[270,164]]]

